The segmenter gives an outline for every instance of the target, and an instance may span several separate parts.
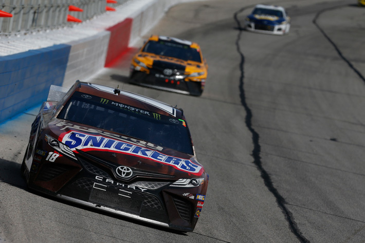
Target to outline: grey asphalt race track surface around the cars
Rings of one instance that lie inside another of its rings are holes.
[[[210,174],[193,233],[28,192],[19,171],[33,109],[0,126],[0,242],[364,242],[365,8],[267,2],[291,16],[290,33],[274,36],[241,29],[256,3],[178,5],[151,30],[202,46],[202,97],[128,84],[134,49],[89,80],[184,108]]]

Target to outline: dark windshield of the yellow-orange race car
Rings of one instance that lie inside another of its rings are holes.
[[[150,52],[156,55],[165,55],[181,59],[184,61],[202,62],[200,58],[199,49],[191,48],[188,45],[179,44],[168,41],[149,41],[142,49],[144,52]]]

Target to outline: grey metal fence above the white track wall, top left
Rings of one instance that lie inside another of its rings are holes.
[[[0,0],[0,10],[13,15],[0,17],[0,35],[75,25],[75,22],[67,22],[68,14],[86,21],[106,12],[106,6],[115,8],[128,1],[107,3],[107,0]],[[70,5],[83,9],[83,12],[69,11]]]

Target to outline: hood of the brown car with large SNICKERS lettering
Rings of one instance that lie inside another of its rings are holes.
[[[65,144],[78,159],[88,157],[105,164],[180,178],[204,173],[203,166],[193,155],[96,127],[55,119],[44,130]]]

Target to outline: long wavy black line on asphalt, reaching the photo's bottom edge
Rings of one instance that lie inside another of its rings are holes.
[[[250,107],[248,106],[247,102],[246,102],[246,95],[245,95],[245,89],[244,89],[244,64],[245,64],[245,57],[241,51],[240,48],[240,40],[241,40],[241,35],[242,35],[242,26],[240,21],[238,20],[237,15],[248,9],[248,8],[252,8],[255,5],[251,5],[251,6],[246,6],[240,10],[238,10],[237,12],[234,13],[234,20],[238,25],[238,30],[239,30],[239,34],[237,36],[235,45],[237,48],[238,53],[240,54],[241,57],[241,61],[240,61],[240,96],[241,96],[241,103],[246,111],[246,117],[245,117],[245,123],[246,123],[246,127],[248,128],[248,130],[250,131],[251,135],[252,135],[252,143],[253,143],[253,150],[252,150],[252,154],[251,156],[253,157],[253,163],[256,165],[257,169],[260,171],[261,173],[261,177],[264,180],[265,186],[266,188],[272,193],[273,196],[275,196],[276,201],[278,203],[279,208],[281,209],[281,211],[283,212],[286,221],[288,222],[289,228],[291,230],[291,232],[297,237],[297,239],[300,242],[303,243],[309,243],[310,241],[308,239],[306,239],[303,234],[300,232],[300,230],[298,229],[297,223],[294,221],[294,217],[293,214],[291,214],[291,212],[287,209],[286,207],[286,201],[285,199],[281,196],[281,194],[278,192],[278,190],[275,188],[275,186],[273,186],[273,183],[271,181],[271,178],[269,176],[269,174],[267,173],[267,171],[264,169],[264,167],[262,166],[262,161],[261,161],[261,145],[260,145],[260,135],[255,131],[255,129],[252,127],[252,111],[250,109]]]

